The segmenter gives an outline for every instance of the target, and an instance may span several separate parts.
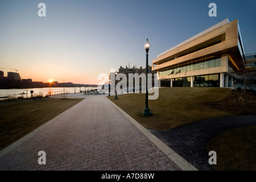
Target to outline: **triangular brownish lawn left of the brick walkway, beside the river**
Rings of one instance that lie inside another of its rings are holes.
[[[43,98],[0,102],[0,150],[35,130],[82,98]]]

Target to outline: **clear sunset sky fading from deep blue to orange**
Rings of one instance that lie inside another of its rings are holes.
[[[209,3],[217,16],[210,17]],[[38,16],[45,3],[46,16]],[[24,79],[98,84],[100,73],[146,67],[157,55],[229,18],[256,52],[255,0],[0,0],[0,70]],[[6,68],[6,69],[2,69]],[[12,69],[10,69],[12,68]]]

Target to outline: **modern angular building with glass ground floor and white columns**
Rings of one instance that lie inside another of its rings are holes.
[[[245,53],[238,20],[200,32],[152,60],[160,86],[233,87],[245,75]]]

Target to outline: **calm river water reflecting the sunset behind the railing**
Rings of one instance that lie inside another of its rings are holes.
[[[91,87],[86,87],[86,90],[90,90],[90,89],[97,89],[97,88],[91,88]],[[31,93],[30,91],[33,90],[33,96],[36,95],[42,95],[42,96],[46,96],[49,95],[49,92],[51,92],[52,94],[60,94],[63,93],[64,88],[33,88],[33,89],[0,89],[0,97],[7,97],[9,96],[9,98],[18,98],[18,97],[31,97]],[[80,92],[80,88],[74,88],[74,87],[69,87],[69,88],[65,88],[65,92],[68,93],[79,93]],[[81,87],[81,91],[83,92],[85,90],[85,87]],[[23,93],[24,94],[21,94]],[[0,100],[4,100],[4,99],[8,99],[8,98],[0,98]]]

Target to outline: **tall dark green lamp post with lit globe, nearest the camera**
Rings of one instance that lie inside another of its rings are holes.
[[[150,49],[150,43],[147,42],[144,44],[144,48],[146,50],[146,97],[145,97],[145,107],[143,109],[143,115],[147,116],[147,115],[151,115],[150,113],[150,109],[148,108],[148,92],[147,92],[147,73],[148,73],[148,51]]]

